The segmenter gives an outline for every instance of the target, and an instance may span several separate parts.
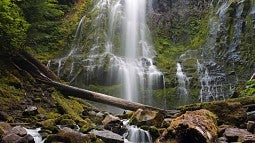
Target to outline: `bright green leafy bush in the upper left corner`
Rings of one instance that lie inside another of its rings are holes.
[[[0,43],[3,50],[20,48],[26,38],[28,26],[16,4],[10,0],[0,1]]]

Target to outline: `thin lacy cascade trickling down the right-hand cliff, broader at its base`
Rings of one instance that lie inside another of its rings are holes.
[[[226,45],[226,13],[231,1],[223,1],[216,12],[217,18],[212,17],[209,21],[209,36],[206,44],[202,49],[202,59],[197,60],[197,72],[200,82],[200,101],[211,101],[225,99],[228,95],[229,88],[224,89],[223,84],[226,83],[227,77],[223,71],[223,67],[217,63],[216,42],[219,36],[222,36],[222,45]],[[219,34],[221,32],[221,34]]]

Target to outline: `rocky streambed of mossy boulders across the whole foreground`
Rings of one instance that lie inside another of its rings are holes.
[[[138,109],[113,115],[91,108],[79,117],[63,114],[36,124],[1,121],[0,140],[3,143],[254,143],[253,106],[244,106],[240,101],[193,104],[180,107],[175,113]],[[36,107],[29,109],[24,116],[34,118],[40,114]]]

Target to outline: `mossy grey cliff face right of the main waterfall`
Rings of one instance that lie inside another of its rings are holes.
[[[255,65],[254,9],[253,0],[154,0],[150,26],[168,88],[178,86],[177,62],[189,96],[201,101],[230,97],[244,87]],[[169,94],[180,96],[177,88]]]

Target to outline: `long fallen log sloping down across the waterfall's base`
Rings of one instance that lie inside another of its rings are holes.
[[[164,109],[159,109],[159,108],[144,105],[141,103],[136,103],[136,102],[128,101],[125,99],[121,99],[121,98],[105,95],[102,93],[97,93],[97,92],[93,92],[93,91],[89,91],[89,90],[85,90],[78,87],[60,83],[56,81],[58,78],[57,76],[54,75],[53,72],[47,69],[44,65],[42,65],[37,59],[33,58],[33,56],[31,56],[30,54],[26,52],[24,53],[21,52],[21,54],[18,54],[17,57],[15,58],[16,60],[13,61],[13,64],[19,70],[29,73],[35,79],[43,83],[56,87],[64,95],[79,97],[82,99],[104,103],[107,105],[119,107],[126,110],[132,110],[132,111],[135,111],[140,108],[140,109],[163,111],[166,114],[170,114],[170,115],[176,113],[176,111],[174,110],[165,111]]]

